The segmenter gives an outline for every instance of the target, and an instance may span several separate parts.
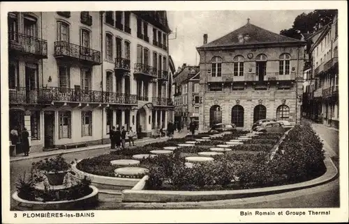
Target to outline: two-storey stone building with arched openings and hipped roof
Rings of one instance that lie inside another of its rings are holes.
[[[248,22],[198,47],[199,131],[216,123],[251,129],[264,118],[300,119],[304,45]],[[299,78],[299,79],[298,79]]]

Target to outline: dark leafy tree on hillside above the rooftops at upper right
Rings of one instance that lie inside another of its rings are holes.
[[[334,15],[338,13],[338,10],[314,10],[311,13],[302,13],[297,15],[293,22],[292,28],[283,29],[280,31],[281,35],[285,35],[289,38],[295,38],[300,40],[302,38],[301,33],[313,33],[315,28],[325,26],[332,21]]]

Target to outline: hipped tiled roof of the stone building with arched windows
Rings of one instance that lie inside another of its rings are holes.
[[[248,36],[248,40],[240,42],[240,38],[244,39],[246,35]],[[239,45],[253,45],[259,43],[282,43],[282,42],[302,42],[301,40],[288,38],[284,35],[280,35],[277,33],[273,33],[271,31],[267,31],[266,29],[262,29],[259,26],[255,26],[253,24],[247,23],[246,25],[224,35],[217,40],[211,41],[206,45],[202,45],[201,47],[228,47],[228,46],[239,46]],[[200,47],[200,48],[201,48]]]

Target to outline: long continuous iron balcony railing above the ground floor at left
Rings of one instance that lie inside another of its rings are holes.
[[[136,95],[129,93],[110,93],[75,88],[38,88],[30,90],[20,87],[10,89],[9,102],[15,104],[50,104],[55,102],[88,102],[109,104],[137,104]]]

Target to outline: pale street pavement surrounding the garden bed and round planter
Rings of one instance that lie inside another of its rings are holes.
[[[326,153],[332,155],[332,160],[338,158],[338,139],[339,132],[336,130],[328,129],[324,125],[312,125],[313,129],[324,140],[324,148]],[[328,131],[331,130],[331,131]],[[187,130],[181,133],[175,133],[174,138],[180,138],[186,136]],[[167,138],[163,138],[165,141]],[[159,141],[158,139],[156,141]],[[140,143],[136,145],[145,145],[150,142]],[[67,152],[68,150],[64,150]],[[110,152],[110,146],[105,145],[102,148],[89,149],[89,150],[75,150],[75,152],[69,152],[64,155],[67,161],[73,161],[75,159],[84,159],[88,157],[96,157],[101,154]],[[47,156],[52,156],[47,154]],[[17,177],[22,175],[24,170],[29,171],[31,163],[39,161],[40,157],[24,157],[25,159],[11,161],[10,163],[10,190],[11,193],[15,191],[15,182]],[[337,168],[338,163],[334,161]],[[107,195],[101,195],[101,200],[107,197]],[[339,207],[339,178],[334,179],[327,184],[320,186],[314,186],[309,189],[302,189],[298,191],[291,191],[288,193],[280,193],[274,195],[266,195],[253,198],[241,198],[234,200],[222,200],[214,202],[181,202],[181,203],[125,203],[125,202],[107,202],[103,200],[96,209],[184,209],[184,208],[197,208],[197,209],[239,209],[239,208],[300,208],[300,207]],[[11,205],[13,200],[11,199]]]

